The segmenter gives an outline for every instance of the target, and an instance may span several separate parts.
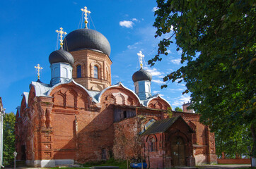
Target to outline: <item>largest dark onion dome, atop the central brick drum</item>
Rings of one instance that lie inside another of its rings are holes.
[[[110,56],[110,42],[100,32],[87,28],[70,32],[64,39],[65,51],[78,51],[81,49],[91,49],[100,51]]]

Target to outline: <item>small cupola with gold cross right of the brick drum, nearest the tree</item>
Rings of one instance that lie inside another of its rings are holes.
[[[139,56],[141,69],[132,75],[132,80],[134,81],[135,93],[139,96],[139,99],[146,100],[151,96],[152,75],[149,71],[143,69],[142,58],[144,55],[141,51],[137,55]]]

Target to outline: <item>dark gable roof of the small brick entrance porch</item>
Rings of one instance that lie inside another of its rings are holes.
[[[143,132],[141,135],[149,135],[149,134],[155,134],[155,133],[160,133],[160,132],[165,132],[168,130],[179,118],[182,119],[183,123],[187,125],[185,120],[179,115],[178,117],[175,118],[165,118],[163,120],[157,120],[155,123],[153,123],[145,132]],[[190,132],[194,132],[192,128],[187,125],[189,128]]]

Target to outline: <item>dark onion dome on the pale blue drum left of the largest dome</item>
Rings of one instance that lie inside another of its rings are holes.
[[[73,56],[67,52],[64,51],[62,48],[57,51],[52,51],[52,53],[49,56],[49,62],[52,63],[69,63],[70,65],[74,64],[74,58]]]

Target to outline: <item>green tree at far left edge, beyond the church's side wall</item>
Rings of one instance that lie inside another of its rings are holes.
[[[4,117],[4,163],[13,162],[13,152],[15,151],[15,115],[7,113]]]

